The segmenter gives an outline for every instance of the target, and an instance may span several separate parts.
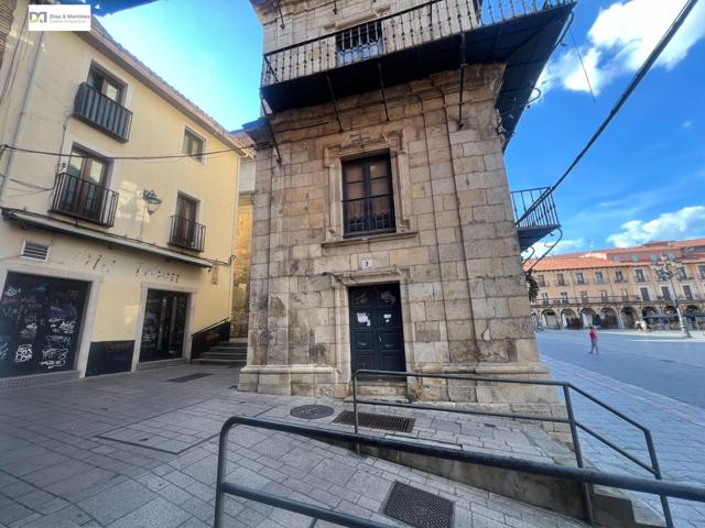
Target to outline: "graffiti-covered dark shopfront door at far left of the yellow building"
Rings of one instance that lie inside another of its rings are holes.
[[[88,283],[8,273],[0,298],[0,377],[74,367]]]

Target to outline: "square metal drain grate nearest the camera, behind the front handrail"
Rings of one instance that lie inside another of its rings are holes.
[[[453,502],[395,482],[383,514],[415,528],[452,528]]]

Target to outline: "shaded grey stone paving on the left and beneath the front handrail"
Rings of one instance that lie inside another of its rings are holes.
[[[171,381],[193,373],[210,375]],[[284,409],[315,402],[238,393],[236,382],[237,371],[187,365],[1,391],[0,527],[212,526],[214,437],[223,421],[232,414],[282,417]],[[479,427],[457,431],[443,420],[421,421],[420,429],[449,435],[456,442],[485,442],[488,450],[525,448],[525,436],[514,425],[498,428],[496,436],[480,433]],[[456,527],[584,526],[313,440],[245,427],[230,437],[228,480],[392,526],[399,525],[380,510],[397,481],[452,499]],[[502,443],[500,438],[514,440]],[[523,454],[542,457],[542,451]],[[232,497],[226,512],[226,526],[232,528],[326,525]]]

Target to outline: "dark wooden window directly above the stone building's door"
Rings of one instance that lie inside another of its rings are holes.
[[[343,217],[347,237],[394,231],[389,154],[343,163]]]

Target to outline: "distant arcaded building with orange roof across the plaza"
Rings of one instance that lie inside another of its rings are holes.
[[[685,266],[675,289],[651,268],[662,255]],[[540,286],[532,314],[547,328],[630,329],[642,320],[663,327],[674,322],[676,298],[691,326],[705,322],[705,239],[549,256],[532,274]]]

